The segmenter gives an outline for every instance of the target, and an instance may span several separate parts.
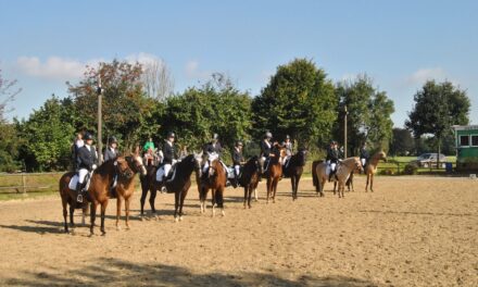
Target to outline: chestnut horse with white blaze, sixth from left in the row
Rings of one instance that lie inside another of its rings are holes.
[[[261,171],[261,173],[263,175],[265,174],[267,178],[266,203],[268,203],[271,197],[273,199],[273,203],[276,202],[277,184],[282,177],[282,161],[286,157],[286,150],[282,146],[275,144],[273,147],[273,154],[274,157],[271,157],[269,159],[267,171],[265,173],[264,171]]]

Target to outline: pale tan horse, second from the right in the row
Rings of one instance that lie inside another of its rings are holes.
[[[318,191],[320,194],[320,197],[324,196],[324,184],[328,179],[327,174],[328,164],[325,162],[318,163],[315,166],[315,172],[317,176],[317,185],[318,185]],[[358,158],[349,158],[340,162],[340,164],[337,165],[337,172],[336,172],[336,178],[334,180],[339,182],[339,188],[338,194],[339,198],[343,198],[343,189],[345,186],[347,179],[350,177],[350,174],[355,171],[361,170],[363,171],[362,163]]]

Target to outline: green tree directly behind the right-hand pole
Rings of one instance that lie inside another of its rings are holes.
[[[374,149],[388,149],[392,137],[394,112],[393,101],[385,91],[374,88],[372,78],[360,75],[354,82],[341,82],[336,87],[340,99],[338,112],[348,109],[347,138],[348,149],[356,153],[363,142],[370,144]],[[343,113],[336,123],[336,137],[343,142]]]

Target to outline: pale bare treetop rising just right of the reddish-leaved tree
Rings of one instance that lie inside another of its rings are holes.
[[[144,64],[141,80],[146,95],[158,101],[165,101],[173,95],[173,75],[163,60],[154,60],[151,63]]]

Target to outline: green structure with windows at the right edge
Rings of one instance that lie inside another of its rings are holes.
[[[478,170],[478,125],[453,126],[456,139],[456,170]]]

